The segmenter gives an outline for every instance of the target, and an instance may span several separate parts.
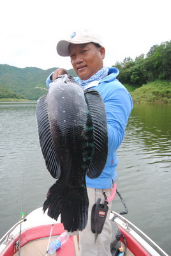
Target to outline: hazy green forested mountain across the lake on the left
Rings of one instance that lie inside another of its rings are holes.
[[[48,75],[56,70],[50,68],[42,70],[36,67],[17,68],[9,65],[0,65],[0,98],[29,99],[37,100],[46,93],[45,90],[36,87],[46,88],[45,81]],[[71,76],[76,76],[73,69],[68,70]]]

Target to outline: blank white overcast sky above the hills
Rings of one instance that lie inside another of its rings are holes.
[[[106,66],[134,60],[171,40],[170,7],[170,0],[1,0],[0,64],[69,69],[56,44],[80,27],[100,33]]]

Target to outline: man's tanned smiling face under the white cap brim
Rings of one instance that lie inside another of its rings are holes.
[[[103,68],[105,48],[96,47],[94,44],[70,44],[69,46],[71,64],[82,80],[89,79]]]

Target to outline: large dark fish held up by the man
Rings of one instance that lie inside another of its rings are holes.
[[[64,75],[51,84],[36,109],[41,151],[56,180],[48,190],[43,211],[68,231],[83,230],[89,200],[85,174],[98,177],[107,160],[105,106],[96,90],[82,90]]]

